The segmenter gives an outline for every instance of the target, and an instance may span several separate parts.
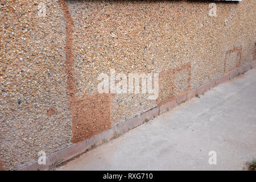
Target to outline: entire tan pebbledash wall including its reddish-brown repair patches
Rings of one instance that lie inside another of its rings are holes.
[[[254,0],[2,1],[1,168],[43,168],[39,151],[48,166],[67,160],[99,143],[95,135],[117,137],[114,128],[137,125],[144,111],[158,115],[186,100],[178,96],[253,67],[255,9]],[[159,73],[158,99],[98,94],[97,77],[110,69]]]

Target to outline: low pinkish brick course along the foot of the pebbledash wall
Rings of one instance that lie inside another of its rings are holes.
[[[157,117],[159,114],[162,114],[168,110],[174,109],[177,105],[190,100],[191,98],[195,97],[196,94],[203,94],[207,92],[207,90],[222,84],[225,81],[229,81],[230,79],[234,78],[235,75],[238,76],[249,69],[253,69],[256,67],[256,61],[251,63],[242,65],[242,67],[234,69],[229,73],[225,73],[224,76],[217,78],[211,82],[208,82],[199,88],[186,91],[184,93],[179,94],[172,100],[166,102],[161,106],[154,107],[150,110],[147,110],[136,117],[130,118],[125,122],[119,123],[118,125],[111,127],[109,130],[104,131],[103,133],[94,135],[90,139],[86,139],[82,142],[72,144],[71,146],[65,147],[59,151],[54,152],[53,154],[49,154],[47,156],[46,165],[39,165],[38,161],[36,160],[33,163],[27,164],[26,166],[16,168],[16,170],[26,171],[26,170],[46,170],[51,168],[53,164],[56,162],[66,162],[68,160],[72,160],[75,156],[83,154],[84,152],[102,144],[106,141],[110,141],[114,138],[119,137],[120,135],[134,129],[139,125],[142,125],[144,122],[147,122],[150,119]]]

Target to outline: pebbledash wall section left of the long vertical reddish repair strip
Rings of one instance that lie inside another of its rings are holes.
[[[71,143],[65,19],[57,1],[2,1],[0,19],[0,158],[11,169]]]

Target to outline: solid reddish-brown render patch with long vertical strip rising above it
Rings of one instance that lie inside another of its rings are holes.
[[[65,62],[67,70],[67,91],[72,115],[72,143],[81,142],[96,135],[112,125],[110,113],[112,96],[110,94],[92,94],[76,96],[77,82],[73,76],[73,25],[74,21],[67,3],[59,0],[64,12],[65,28]]]

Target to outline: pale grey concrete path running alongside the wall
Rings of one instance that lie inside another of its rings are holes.
[[[217,164],[209,164],[215,151]],[[256,69],[58,170],[242,170],[256,158]]]

